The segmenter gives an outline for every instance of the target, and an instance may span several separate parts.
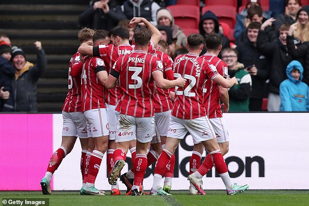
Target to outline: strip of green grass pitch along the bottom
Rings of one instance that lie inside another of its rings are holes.
[[[49,198],[50,206],[309,206],[309,190],[247,190],[228,196],[225,190],[207,190],[206,195],[172,191],[172,196],[79,195],[78,191],[0,191],[0,198]],[[125,194],[124,191],[121,192]]]

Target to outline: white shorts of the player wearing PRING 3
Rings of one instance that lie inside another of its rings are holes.
[[[154,133],[155,116],[135,117],[120,114],[115,142],[127,142],[135,139],[141,143],[152,140]]]

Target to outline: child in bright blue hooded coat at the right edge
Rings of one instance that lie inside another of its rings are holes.
[[[287,66],[288,79],[280,84],[280,111],[309,111],[309,87],[302,82],[304,68],[293,60]]]

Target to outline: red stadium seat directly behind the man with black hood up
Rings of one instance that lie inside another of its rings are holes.
[[[217,17],[219,22],[227,23],[230,28],[234,28],[236,22],[236,8],[234,6],[225,5],[212,5],[204,6],[202,8],[202,15],[207,11],[212,11]]]

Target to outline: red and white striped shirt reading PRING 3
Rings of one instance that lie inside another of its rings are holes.
[[[155,85],[152,74],[163,72],[160,59],[136,50],[130,55],[120,56],[114,70],[119,73],[119,87],[122,95],[116,110],[135,117],[154,116]]]

